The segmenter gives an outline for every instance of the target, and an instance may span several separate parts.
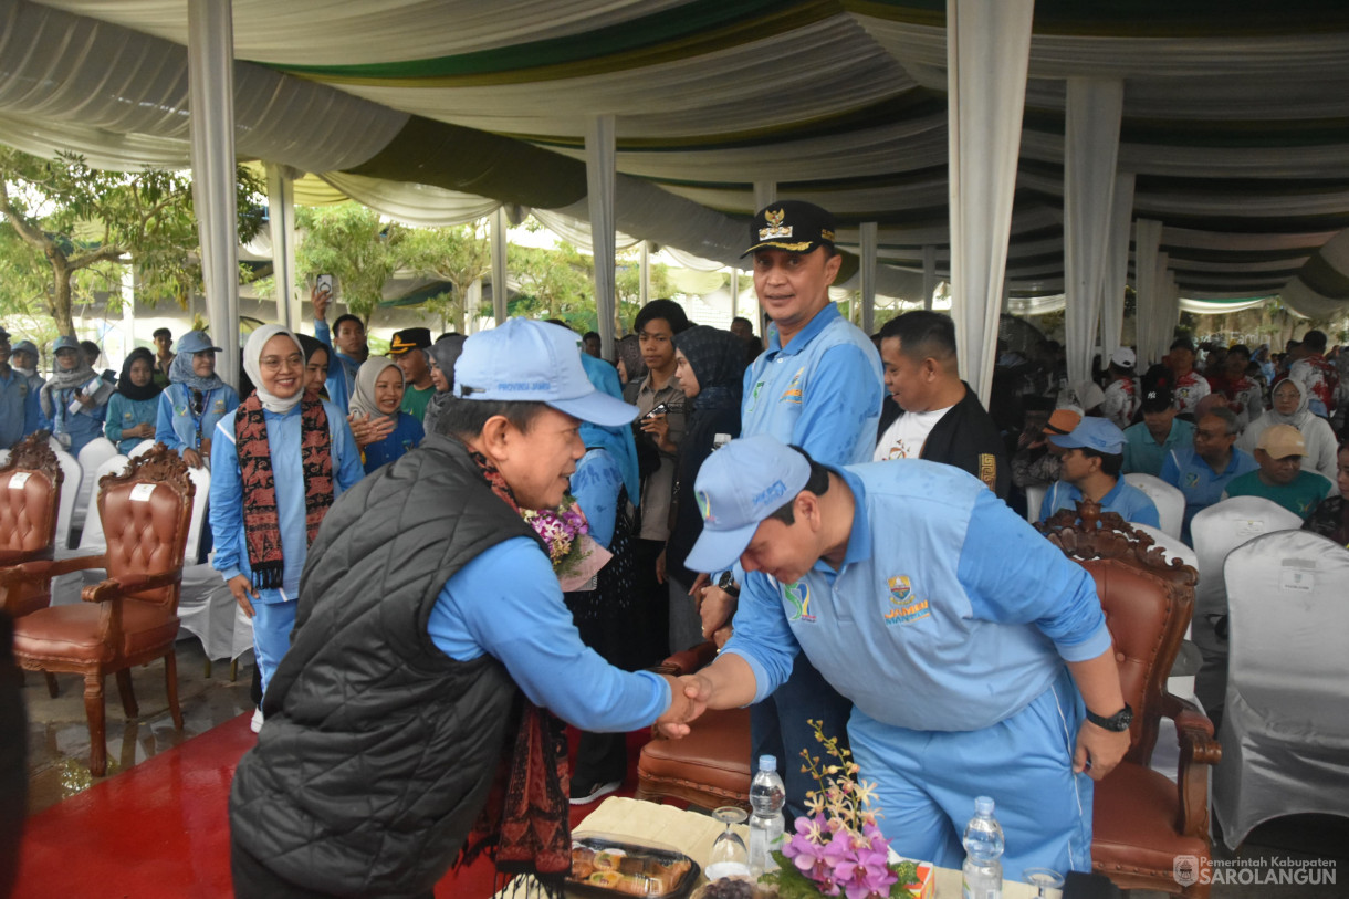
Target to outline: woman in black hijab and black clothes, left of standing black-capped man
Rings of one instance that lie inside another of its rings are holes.
[[[673,526],[665,544],[665,574],[670,590],[670,652],[688,649],[711,638],[723,624],[704,629],[699,617],[703,602],[689,599],[696,572],[684,567],[693,541],[703,533],[693,481],[703,460],[711,455],[716,435],[741,435],[741,394],[745,382],[745,342],[730,331],[696,325],[674,335],[674,373],[693,410],[684,427],[674,468]],[[700,590],[701,593],[701,590]]]

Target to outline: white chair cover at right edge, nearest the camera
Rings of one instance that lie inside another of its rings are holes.
[[[1271,818],[1349,811],[1349,549],[1283,530],[1233,549],[1224,575],[1232,659],[1213,802],[1236,849]]]

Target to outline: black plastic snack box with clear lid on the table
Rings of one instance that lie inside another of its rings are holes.
[[[572,838],[572,873],[567,890],[599,899],[685,899],[699,873],[696,861],[668,846],[585,834]]]

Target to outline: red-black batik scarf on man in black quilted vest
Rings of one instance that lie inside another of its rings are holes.
[[[483,479],[515,512],[519,503],[500,471],[471,447]],[[519,726],[487,794],[487,805],[464,841],[461,864],[483,852],[496,864],[496,891],[507,877],[526,875],[546,896],[561,899],[572,869],[571,803],[567,737],[563,722],[521,695]],[[514,883],[519,884],[521,880]],[[526,887],[527,890],[527,887]]]

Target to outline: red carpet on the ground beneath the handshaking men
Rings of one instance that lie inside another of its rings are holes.
[[[254,745],[243,714],[28,819],[13,899],[228,899],[229,780]],[[629,734],[633,795],[645,733]],[[572,741],[575,749],[575,736]],[[572,810],[572,823],[596,806]],[[452,871],[438,899],[492,895],[495,868]]]

